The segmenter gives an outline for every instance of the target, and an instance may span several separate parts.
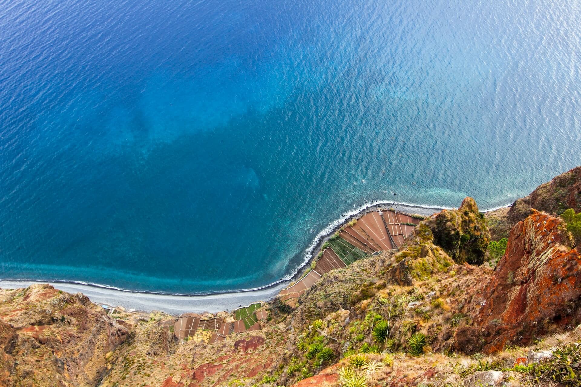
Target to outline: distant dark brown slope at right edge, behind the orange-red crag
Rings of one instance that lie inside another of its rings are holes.
[[[562,173],[537,187],[529,196],[515,201],[507,214],[510,224],[524,220],[531,208],[552,215],[559,215],[567,208],[581,211],[581,167]]]

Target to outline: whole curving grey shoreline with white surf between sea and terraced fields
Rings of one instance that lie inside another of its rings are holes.
[[[498,208],[486,209],[482,212],[494,211]],[[78,281],[66,280],[9,280],[0,279],[0,288],[28,287],[31,284],[50,284],[59,290],[76,293],[83,292],[94,303],[101,303],[108,306],[123,306],[127,310],[139,310],[150,312],[161,310],[169,314],[193,313],[217,313],[224,310],[234,310],[239,306],[249,305],[256,301],[270,301],[279,291],[284,289],[290,282],[302,277],[305,269],[309,269],[311,262],[317,256],[322,244],[325,243],[340,227],[350,222],[352,219],[360,218],[371,211],[378,209],[393,208],[396,211],[407,214],[419,214],[429,216],[442,209],[450,207],[436,207],[431,205],[418,205],[408,203],[397,203],[394,201],[371,201],[360,205],[352,211],[347,211],[338,219],[333,220],[327,227],[321,230],[313,238],[311,244],[299,255],[303,256],[302,262],[292,270],[293,274],[283,277],[259,288],[235,290],[227,292],[212,292],[207,294],[167,294],[154,291],[136,291],[110,287],[107,285],[81,283]]]

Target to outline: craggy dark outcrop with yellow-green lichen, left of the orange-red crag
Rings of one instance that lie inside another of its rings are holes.
[[[457,263],[484,262],[490,232],[473,198],[465,198],[458,209],[438,212],[426,221],[426,225],[432,230],[433,243]]]

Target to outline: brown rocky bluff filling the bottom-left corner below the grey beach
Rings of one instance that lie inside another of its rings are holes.
[[[94,386],[127,330],[82,295],[0,290],[0,385]]]

